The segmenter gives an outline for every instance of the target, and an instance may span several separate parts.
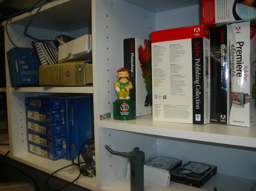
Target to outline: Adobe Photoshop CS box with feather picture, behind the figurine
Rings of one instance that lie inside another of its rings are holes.
[[[130,98],[136,102],[136,117],[152,114],[151,41],[124,39],[124,67],[129,69],[133,88]]]

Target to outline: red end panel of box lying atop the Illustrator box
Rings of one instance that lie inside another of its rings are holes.
[[[202,24],[215,23],[215,0],[202,0]]]

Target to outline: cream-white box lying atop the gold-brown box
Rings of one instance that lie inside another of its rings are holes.
[[[92,58],[91,34],[74,39],[59,46],[59,63]]]

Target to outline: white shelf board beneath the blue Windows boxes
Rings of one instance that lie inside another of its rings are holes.
[[[52,161],[50,159],[46,159],[44,157],[40,157],[36,154],[32,154],[28,152],[11,156],[11,158],[21,163],[24,163],[26,165],[29,165],[30,167],[46,172],[48,174],[51,174],[62,167],[72,164],[71,161],[67,161],[64,159]],[[57,172],[55,176],[69,182],[73,181],[79,175],[79,171],[71,174],[68,171],[70,168],[63,169],[62,171]],[[90,177],[85,177],[81,175],[81,177],[74,183],[81,187],[84,187],[93,191],[101,191],[101,189],[96,187],[96,177],[90,178]]]

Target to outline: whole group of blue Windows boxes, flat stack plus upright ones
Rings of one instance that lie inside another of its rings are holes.
[[[29,152],[52,160],[72,160],[83,143],[92,138],[90,96],[54,94],[30,97],[25,98],[25,105]]]

